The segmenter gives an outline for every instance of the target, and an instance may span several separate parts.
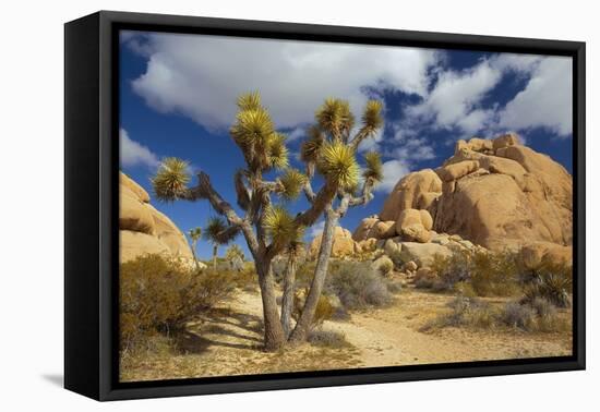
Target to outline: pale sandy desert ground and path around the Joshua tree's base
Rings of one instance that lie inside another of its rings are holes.
[[[121,380],[261,373],[339,369],[391,365],[448,363],[568,355],[571,334],[531,334],[515,330],[475,330],[423,327],[447,311],[453,296],[406,289],[395,304],[352,313],[349,320],[331,322],[348,346],[303,344],[293,350],[261,350],[262,304],[256,292],[239,292],[232,302],[190,324],[176,338],[178,351],[148,351],[147,356],[123,358]],[[501,299],[490,299],[501,304]]]

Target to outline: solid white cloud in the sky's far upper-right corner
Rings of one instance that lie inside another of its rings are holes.
[[[499,126],[527,130],[547,128],[573,133],[573,65],[571,58],[545,58],[519,92],[500,112]]]

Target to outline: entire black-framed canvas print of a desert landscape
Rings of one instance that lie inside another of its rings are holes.
[[[65,24],[65,387],[585,367],[585,44]]]

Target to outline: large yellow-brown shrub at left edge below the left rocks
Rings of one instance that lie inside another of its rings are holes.
[[[160,255],[123,263],[119,276],[122,348],[143,343],[153,334],[181,328],[233,289],[229,274],[194,274]]]

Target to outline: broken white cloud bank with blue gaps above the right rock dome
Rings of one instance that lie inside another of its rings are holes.
[[[484,107],[507,73],[528,78],[525,88],[505,107]],[[430,123],[435,129],[458,130],[464,135],[479,131],[524,131],[547,128],[559,135],[572,130],[571,58],[501,53],[461,70],[439,73],[423,100],[406,109],[409,125]]]

